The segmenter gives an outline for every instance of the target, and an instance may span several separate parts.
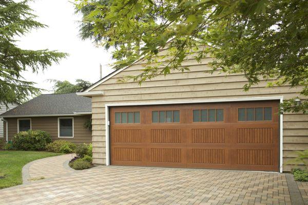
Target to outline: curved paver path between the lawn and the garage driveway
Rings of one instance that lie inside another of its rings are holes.
[[[41,178],[48,179],[59,175],[73,173],[75,170],[68,166],[68,162],[75,154],[65,154],[54,157],[37,159],[23,167],[23,183],[29,183]]]

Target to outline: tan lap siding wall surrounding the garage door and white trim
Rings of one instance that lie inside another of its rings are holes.
[[[190,71],[181,73],[172,71],[166,76],[161,75],[146,81],[139,86],[128,81],[117,83],[124,75],[140,73],[143,64],[135,64],[106,80],[98,87],[92,89],[103,90],[103,96],[92,97],[92,140],[93,161],[104,164],[105,159],[105,104],[111,103],[145,103],[174,100],[202,100],[217,98],[242,98],[260,96],[283,96],[290,99],[300,96],[301,88],[266,87],[267,81],[261,80],[248,92],[243,91],[246,79],[241,74],[225,76],[219,71],[210,74],[206,65],[211,58],[202,60],[202,65],[189,59],[183,63],[189,66]],[[294,157],[294,150],[308,149],[308,115],[286,114],[283,118],[283,163],[284,171],[290,171],[287,161]]]

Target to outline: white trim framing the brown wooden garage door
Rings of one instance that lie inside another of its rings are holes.
[[[256,100],[275,100],[279,99],[280,103],[283,101],[283,96],[271,96],[271,97],[244,97],[244,98],[221,98],[221,99],[204,99],[204,100],[175,100],[175,101],[156,101],[148,103],[122,103],[122,104],[106,104],[105,105],[105,119],[106,123],[106,166],[110,165],[110,155],[109,155],[109,107],[115,106],[147,106],[147,105],[170,105],[170,104],[194,104],[194,103],[222,103],[222,102],[236,102],[236,101],[256,101]],[[282,173],[282,149],[283,149],[283,115],[280,114],[280,168],[279,171]]]

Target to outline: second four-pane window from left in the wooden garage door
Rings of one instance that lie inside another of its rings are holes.
[[[152,111],[152,123],[180,122],[179,110]]]

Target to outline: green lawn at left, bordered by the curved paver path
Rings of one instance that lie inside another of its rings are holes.
[[[34,151],[0,151],[0,189],[21,185],[23,183],[22,169],[30,161],[61,154]]]

